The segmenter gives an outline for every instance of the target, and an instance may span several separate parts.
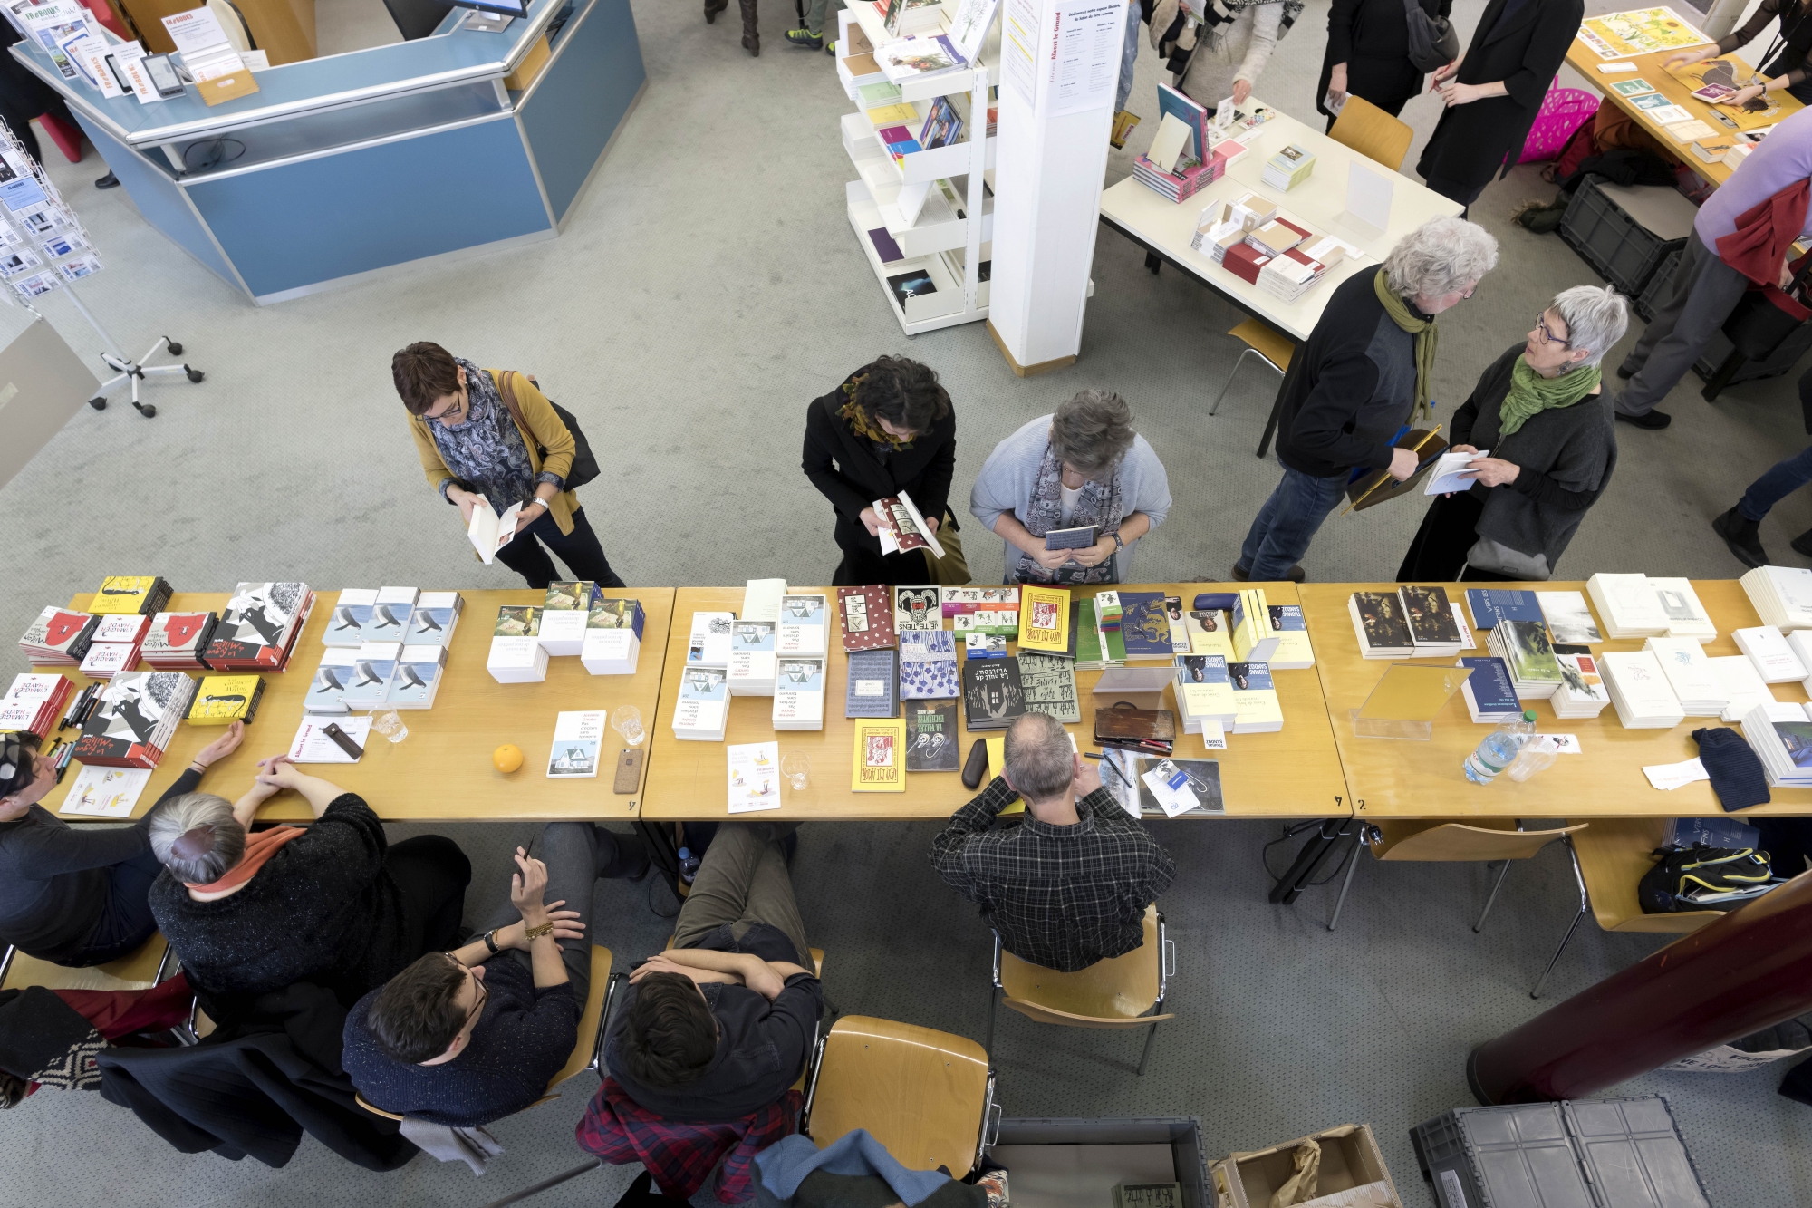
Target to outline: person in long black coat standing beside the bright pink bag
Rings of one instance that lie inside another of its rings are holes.
[[[1435,73],[1448,111],[1415,170],[1470,207],[1508,174],[1578,33],[1582,0],[1491,0],[1459,63]],[[1502,172],[1500,172],[1502,170]]]

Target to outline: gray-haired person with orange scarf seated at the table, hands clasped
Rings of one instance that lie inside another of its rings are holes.
[[[283,791],[308,802],[313,825],[252,834],[259,807]],[[453,947],[471,882],[453,840],[391,845],[359,794],[281,755],[259,760],[236,804],[212,793],[161,804],[150,847],[165,869],[150,912],[216,1021],[295,981],[350,1007],[422,952]]]

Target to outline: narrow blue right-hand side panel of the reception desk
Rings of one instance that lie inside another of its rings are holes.
[[[554,60],[518,107],[547,201],[562,221],[647,80],[629,0],[580,7],[578,27],[560,31]]]

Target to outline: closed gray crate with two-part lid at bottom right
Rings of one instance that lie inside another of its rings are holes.
[[[1455,1108],[1410,1143],[1441,1208],[1711,1208],[1660,1096]]]

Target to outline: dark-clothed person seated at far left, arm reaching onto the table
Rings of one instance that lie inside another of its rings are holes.
[[[194,793],[210,764],[245,738],[234,722],[201,747],[159,804]],[[71,827],[38,805],[56,769],[16,733],[0,733],[0,943],[56,965],[103,965],[158,930],[147,894],[163,865],[150,814],[129,827]]]

